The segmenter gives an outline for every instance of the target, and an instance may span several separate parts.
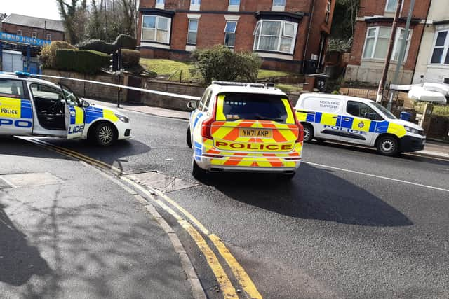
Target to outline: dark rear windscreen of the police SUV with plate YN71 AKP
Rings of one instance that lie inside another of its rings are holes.
[[[286,123],[286,104],[279,95],[225,94],[223,111],[226,120],[273,120]]]

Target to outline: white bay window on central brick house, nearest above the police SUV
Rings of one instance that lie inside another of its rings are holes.
[[[293,54],[297,24],[283,20],[260,20],[254,36],[254,50]]]

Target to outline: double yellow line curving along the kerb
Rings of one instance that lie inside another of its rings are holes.
[[[172,215],[177,220],[177,222],[180,223],[180,226],[184,228],[184,230],[192,237],[192,239],[196,243],[196,246],[198,246],[198,248],[205,256],[210,269],[213,271],[215,278],[220,284],[220,290],[222,291],[224,298],[239,298],[239,296],[237,295],[236,288],[234,288],[224,268],[220,264],[220,260],[217,258],[214,251],[210,249],[210,246],[208,246],[208,243],[203,238],[201,233],[198,230],[196,230],[196,228],[198,228],[203,233],[203,235],[206,235],[210,240],[210,242],[214,244],[218,253],[220,253],[220,256],[222,256],[222,258],[226,261],[230,270],[234,274],[234,277],[236,277],[236,280],[239,281],[239,285],[241,286],[241,288],[243,288],[243,291],[246,292],[248,297],[262,298],[262,295],[260,295],[259,291],[257,291],[255,284],[250,279],[246,270],[244,270],[243,267],[236,260],[236,258],[232,256],[232,253],[229,251],[229,249],[227,249],[222,240],[219,237],[217,237],[217,235],[210,234],[209,231],[198,221],[198,219],[196,219],[192,214],[190,214],[179,204],[177,204],[177,202],[170,199],[170,197],[161,193],[161,191],[149,187],[151,191],[149,192],[147,188],[143,188],[139,183],[136,183],[132,176],[128,177],[123,176],[123,172],[121,171],[121,169],[118,169],[100,160],[88,157],[87,155],[83,155],[76,151],[71,151],[67,148],[62,148],[60,146],[54,146],[53,144],[49,144],[46,141],[39,140],[33,137],[19,137],[19,138],[25,141],[32,142],[33,144],[36,144],[43,148],[47,148],[56,153],[66,155],[71,158],[76,158],[77,160],[81,160],[90,165],[98,167],[103,171],[112,172],[113,174],[118,176],[121,180],[126,181],[133,187],[140,190],[142,193],[145,193],[145,195],[147,195],[147,197],[151,198],[154,202],[156,202],[156,204],[158,204],[159,207],[161,207],[162,209],[167,211],[170,215]],[[156,195],[156,197],[154,195]],[[163,199],[163,201],[159,200],[159,198]],[[190,224],[189,221],[186,221],[185,218],[183,218],[182,216],[177,214],[173,209],[168,207],[166,203],[170,204],[171,206],[175,207],[175,209],[180,211],[190,222],[194,223],[196,228],[194,228],[194,226]]]

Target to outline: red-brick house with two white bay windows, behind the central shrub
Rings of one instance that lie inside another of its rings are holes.
[[[188,59],[192,50],[225,45],[254,51],[262,67],[321,69],[335,0],[140,0],[142,57]]]

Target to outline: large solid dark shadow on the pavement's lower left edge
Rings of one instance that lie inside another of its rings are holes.
[[[0,203],[0,282],[22,286],[33,275],[51,274],[46,260],[36,247],[29,246],[27,236],[15,228],[5,208]]]

